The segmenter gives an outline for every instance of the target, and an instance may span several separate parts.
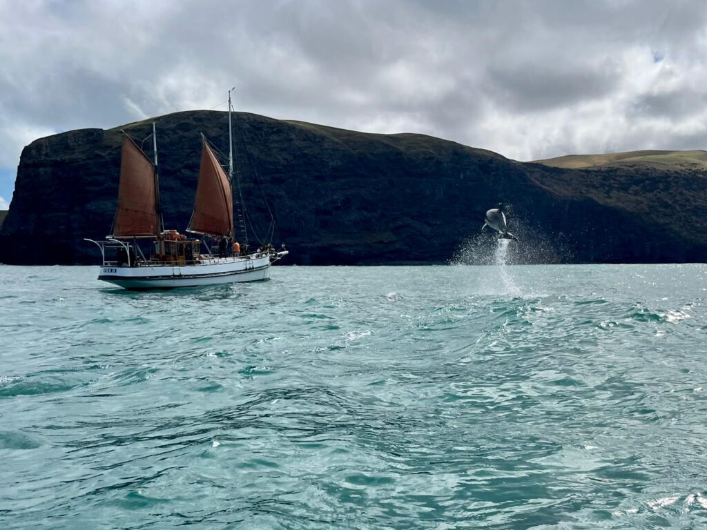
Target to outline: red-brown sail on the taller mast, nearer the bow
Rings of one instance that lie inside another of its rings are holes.
[[[189,231],[209,235],[232,235],[233,195],[230,182],[206,140],[202,144],[197,199],[194,201]]]

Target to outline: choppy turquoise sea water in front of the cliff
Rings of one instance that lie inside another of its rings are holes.
[[[707,266],[0,266],[0,527],[707,526]]]

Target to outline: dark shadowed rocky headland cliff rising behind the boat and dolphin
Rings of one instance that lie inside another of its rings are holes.
[[[181,231],[197,185],[199,134],[227,153],[228,116],[179,112],[155,121],[165,228]],[[499,201],[513,207],[518,261],[707,259],[703,167],[636,160],[568,169],[419,134],[363,134],[246,113],[236,124],[248,217],[267,232],[260,182],[277,219],[274,243],[286,242],[290,264],[443,263]],[[69,131],[25,147],[0,228],[0,262],[98,262],[83,237],[110,232],[121,129],[146,138],[151,121]],[[535,252],[540,247],[549,250]]]

